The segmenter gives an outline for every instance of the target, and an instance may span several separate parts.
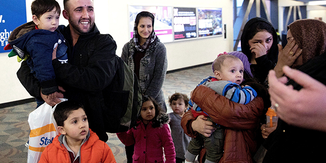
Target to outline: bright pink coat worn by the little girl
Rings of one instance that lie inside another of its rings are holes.
[[[136,127],[117,133],[117,136],[126,146],[134,144],[133,163],[164,162],[163,148],[166,162],[175,163],[174,144],[168,124],[153,128],[152,122],[145,129],[144,123],[138,121]]]

